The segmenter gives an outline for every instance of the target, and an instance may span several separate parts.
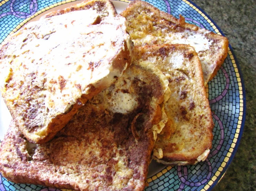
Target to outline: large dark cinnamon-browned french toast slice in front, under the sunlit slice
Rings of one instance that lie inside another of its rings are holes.
[[[0,148],[0,172],[16,183],[142,191],[168,98],[159,69],[132,64],[47,143],[28,143],[12,121]]]

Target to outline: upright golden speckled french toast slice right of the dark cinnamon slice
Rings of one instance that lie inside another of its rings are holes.
[[[170,165],[204,161],[212,145],[213,120],[194,48],[186,44],[135,47],[135,59],[149,61],[169,80],[168,122],[158,135],[153,159]]]

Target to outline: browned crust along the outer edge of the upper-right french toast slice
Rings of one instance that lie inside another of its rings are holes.
[[[189,30],[193,30],[193,31],[198,31],[200,29],[200,27],[197,27],[194,24],[186,23],[184,17],[182,17],[181,15],[180,15],[180,18],[177,19],[174,16],[172,16],[171,14],[160,11],[156,7],[152,6],[151,4],[144,2],[144,1],[140,1],[140,0],[132,1],[129,4],[129,6],[123,12],[121,12],[121,15],[126,18],[127,16],[133,14],[133,10],[136,9],[137,7],[144,7],[145,9],[150,10],[150,12],[155,13],[155,15],[153,16],[154,19],[155,19],[155,17],[157,19],[162,19],[163,22],[166,22],[166,25],[175,24],[176,25],[176,26],[174,26],[175,29],[176,28],[179,28],[180,30],[189,29]],[[127,22],[129,22],[129,21],[127,21]],[[209,33],[207,33],[207,36],[211,37],[212,39],[219,40],[219,41],[223,42],[223,46],[222,46],[220,52],[216,53],[214,56],[214,57],[218,57],[218,59],[216,59],[217,61],[214,63],[215,67],[214,67],[213,71],[210,71],[210,72],[212,72],[210,79],[209,79],[209,81],[210,81],[217,74],[217,71],[219,70],[219,68],[221,67],[221,65],[223,64],[224,60],[227,57],[229,42],[226,37],[220,36],[211,31]],[[204,84],[206,85],[207,82],[205,82]]]

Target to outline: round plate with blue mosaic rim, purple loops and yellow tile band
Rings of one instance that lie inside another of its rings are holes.
[[[162,11],[177,17],[181,14],[188,23],[195,24],[223,35],[219,27],[196,4],[187,0],[146,0]],[[73,0],[0,0],[0,43],[19,30],[30,20],[34,21],[49,11],[58,10],[71,4]],[[130,1],[113,1],[117,12],[125,9]],[[220,181],[231,163],[245,123],[245,87],[236,57],[229,45],[228,56],[218,74],[206,86],[214,121],[212,149],[204,162],[188,166],[165,166],[152,161],[148,173],[151,190],[212,190]],[[0,140],[9,126],[11,116],[2,98],[0,100]],[[0,174],[0,191],[42,190],[60,191],[41,185],[15,184]],[[65,190],[65,189],[62,189]]]

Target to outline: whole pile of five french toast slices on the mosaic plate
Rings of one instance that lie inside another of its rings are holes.
[[[0,47],[11,113],[0,172],[16,183],[141,191],[152,159],[196,164],[211,149],[205,85],[227,38],[143,1],[47,13]]]

